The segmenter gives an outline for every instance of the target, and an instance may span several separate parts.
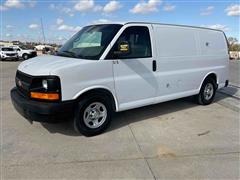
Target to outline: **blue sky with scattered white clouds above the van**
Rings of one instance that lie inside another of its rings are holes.
[[[233,0],[1,0],[3,40],[62,43],[95,22],[146,21],[204,26],[240,38],[239,1]]]

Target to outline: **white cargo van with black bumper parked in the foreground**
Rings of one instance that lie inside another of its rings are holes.
[[[195,95],[210,104],[228,85],[228,44],[219,30],[155,23],[90,25],[55,56],[21,63],[15,108],[27,119],[74,117],[86,136],[103,132],[112,112]]]

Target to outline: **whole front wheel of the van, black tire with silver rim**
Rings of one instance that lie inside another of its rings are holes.
[[[84,98],[75,110],[74,129],[85,136],[100,134],[109,126],[111,114],[108,98],[98,95]]]

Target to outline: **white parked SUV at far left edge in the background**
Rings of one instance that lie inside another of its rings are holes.
[[[0,60],[18,60],[18,53],[12,47],[0,48]]]

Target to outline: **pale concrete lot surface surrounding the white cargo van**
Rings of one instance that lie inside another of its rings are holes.
[[[221,92],[209,106],[184,98],[118,113],[107,132],[87,138],[70,122],[21,117],[9,97],[19,63],[0,63],[2,179],[240,178],[238,97]]]

